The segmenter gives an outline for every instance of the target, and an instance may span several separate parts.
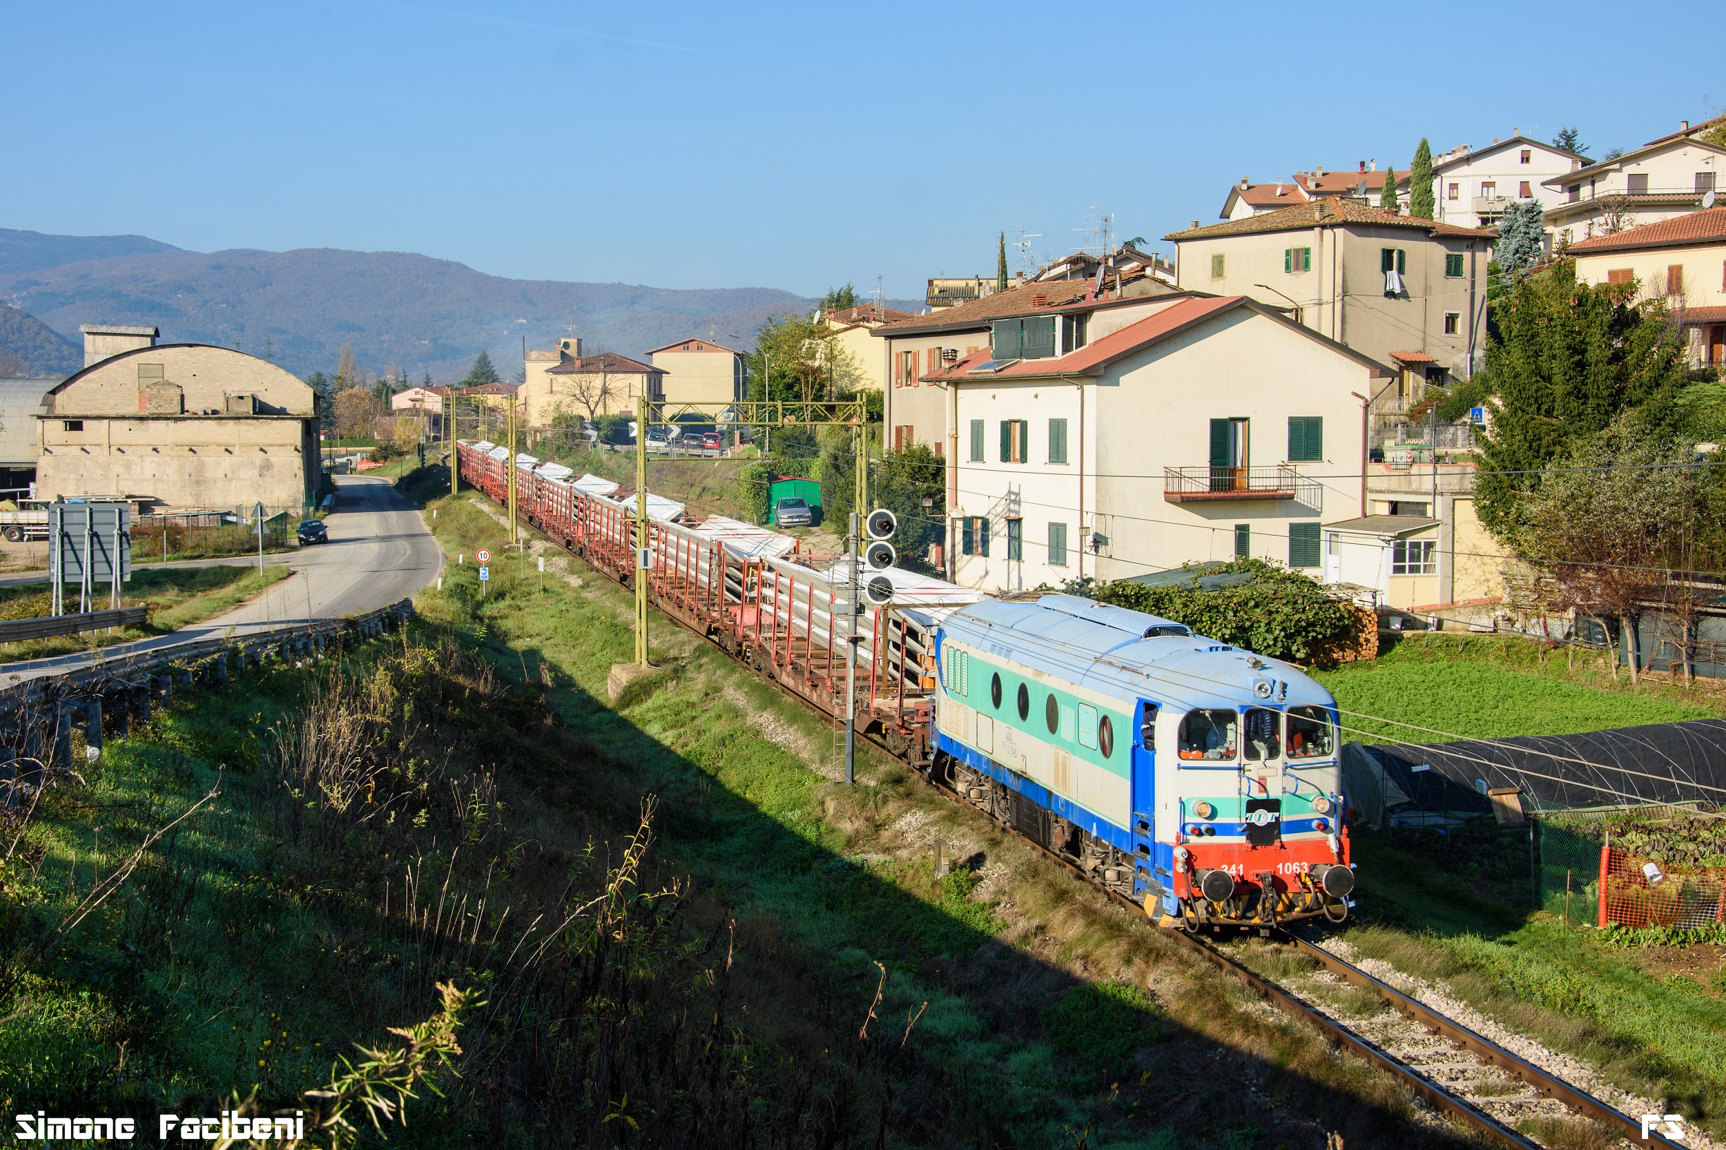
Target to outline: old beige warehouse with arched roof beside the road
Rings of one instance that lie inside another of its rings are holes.
[[[295,511],[316,499],[316,397],[281,368],[98,325],[85,328],[85,364],[36,416],[38,497]]]

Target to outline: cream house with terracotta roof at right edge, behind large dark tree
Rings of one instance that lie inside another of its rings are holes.
[[[1584,283],[1636,283],[1643,299],[1664,297],[1691,363],[1726,366],[1726,205],[1597,235],[1565,254]]]

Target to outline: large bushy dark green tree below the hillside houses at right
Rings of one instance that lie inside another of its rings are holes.
[[[1565,259],[1507,281],[1493,307],[1486,371],[1496,399],[1476,508],[1512,547],[1541,468],[1629,408],[1650,427],[1674,414],[1671,401],[1688,378],[1683,344],[1664,304],[1635,299],[1635,285],[1578,283]]]

